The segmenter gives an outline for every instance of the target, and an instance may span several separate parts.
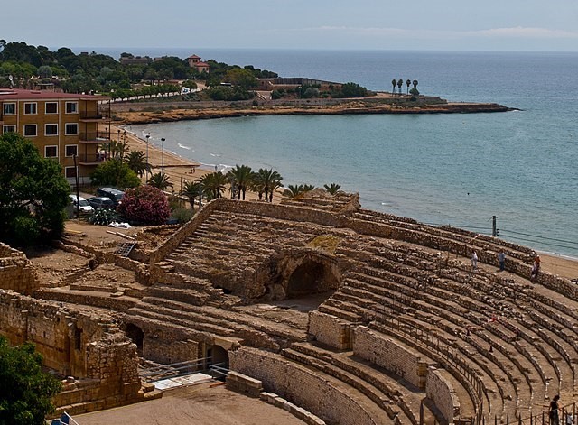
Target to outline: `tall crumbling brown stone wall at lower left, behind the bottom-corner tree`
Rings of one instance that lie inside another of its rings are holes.
[[[142,398],[136,347],[111,319],[0,290],[0,334],[14,345],[32,342],[44,365],[77,379],[56,397],[58,406],[80,403],[79,412]]]

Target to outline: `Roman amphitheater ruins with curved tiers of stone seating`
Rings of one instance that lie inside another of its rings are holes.
[[[143,370],[196,359],[307,423],[530,424],[575,400],[578,288],[530,282],[525,247],[317,191],[136,237],[128,257],[75,234],[42,258],[0,246],[0,332],[69,377],[61,410],[159,397]]]

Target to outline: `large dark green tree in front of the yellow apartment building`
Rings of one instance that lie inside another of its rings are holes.
[[[0,239],[31,245],[61,236],[69,193],[58,162],[20,134],[0,136]]]

